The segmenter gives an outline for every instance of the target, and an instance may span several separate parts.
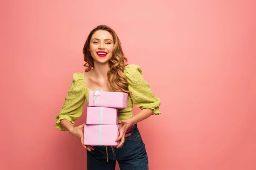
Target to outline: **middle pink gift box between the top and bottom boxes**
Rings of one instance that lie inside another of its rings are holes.
[[[118,109],[105,107],[87,107],[87,125],[117,125]]]

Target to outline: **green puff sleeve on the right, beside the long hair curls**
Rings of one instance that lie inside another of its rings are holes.
[[[153,110],[153,114],[160,114],[159,106],[161,101],[155,97],[150,85],[142,76],[142,70],[138,65],[127,65],[125,75],[129,83],[128,89],[131,92],[131,99],[134,105],[140,109]]]

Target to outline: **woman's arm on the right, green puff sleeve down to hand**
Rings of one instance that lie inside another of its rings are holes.
[[[142,70],[138,65],[127,65],[125,68],[125,75],[128,81],[128,89],[131,92],[131,99],[134,106],[141,109],[134,117],[127,120],[122,120],[119,137],[116,139],[121,140],[116,148],[122,147],[125,142],[125,132],[133,124],[147,119],[152,114],[160,114],[159,106],[161,101],[154,96],[151,91],[150,85],[145,81],[142,76]]]

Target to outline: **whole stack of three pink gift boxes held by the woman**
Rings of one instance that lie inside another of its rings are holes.
[[[84,145],[117,146],[120,126],[118,108],[127,108],[128,94],[96,89],[89,92]]]

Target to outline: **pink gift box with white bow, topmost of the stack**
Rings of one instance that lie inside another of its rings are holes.
[[[90,91],[89,105],[107,108],[127,108],[128,94],[122,92]]]

